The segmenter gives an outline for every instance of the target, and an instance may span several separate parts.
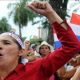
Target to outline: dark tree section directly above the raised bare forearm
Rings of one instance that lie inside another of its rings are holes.
[[[68,0],[49,0],[49,2],[59,16],[64,19],[67,15],[66,9]]]

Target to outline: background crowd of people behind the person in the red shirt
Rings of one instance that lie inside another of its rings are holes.
[[[29,40],[25,39],[24,45],[25,50],[29,49],[31,51],[29,52],[29,54],[27,54],[28,56],[26,55],[25,59],[22,59],[22,61],[24,60],[22,63],[27,63],[26,61],[34,61],[36,59],[43,58],[45,56],[50,55],[50,53],[54,51],[54,47],[48,44],[46,41],[43,41],[41,42],[41,44],[36,45],[31,44]],[[35,53],[37,55],[35,55]],[[78,52],[64,66],[58,69],[56,73],[54,73],[49,78],[49,80],[79,80],[80,79],[79,70],[80,70],[80,53]]]

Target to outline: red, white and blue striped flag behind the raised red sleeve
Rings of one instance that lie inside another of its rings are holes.
[[[68,23],[68,24],[71,26],[73,32],[80,40],[80,15],[73,13],[70,23]],[[61,47],[61,43],[58,40],[56,33],[54,32],[54,48],[57,49],[59,47]]]

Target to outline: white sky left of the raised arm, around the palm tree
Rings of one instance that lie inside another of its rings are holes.
[[[16,33],[19,34],[18,26],[14,24],[13,18],[12,17],[9,18],[8,16],[11,9],[7,8],[7,5],[9,3],[15,3],[15,1],[18,1],[18,0],[0,0],[0,19],[5,16],[8,19],[8,22],[12,26],[12,28],[16,29]],[[27,37],[28,39],[31,36],[38,36],[39,26],[40,24],[33,26],[31,25],[31,22],[29,22],[28,25],[22,29],[22,36]]]

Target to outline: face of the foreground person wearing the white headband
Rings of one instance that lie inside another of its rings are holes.
[[[18,62],[19,48],[12,37],[0,35],[0,66]]]

